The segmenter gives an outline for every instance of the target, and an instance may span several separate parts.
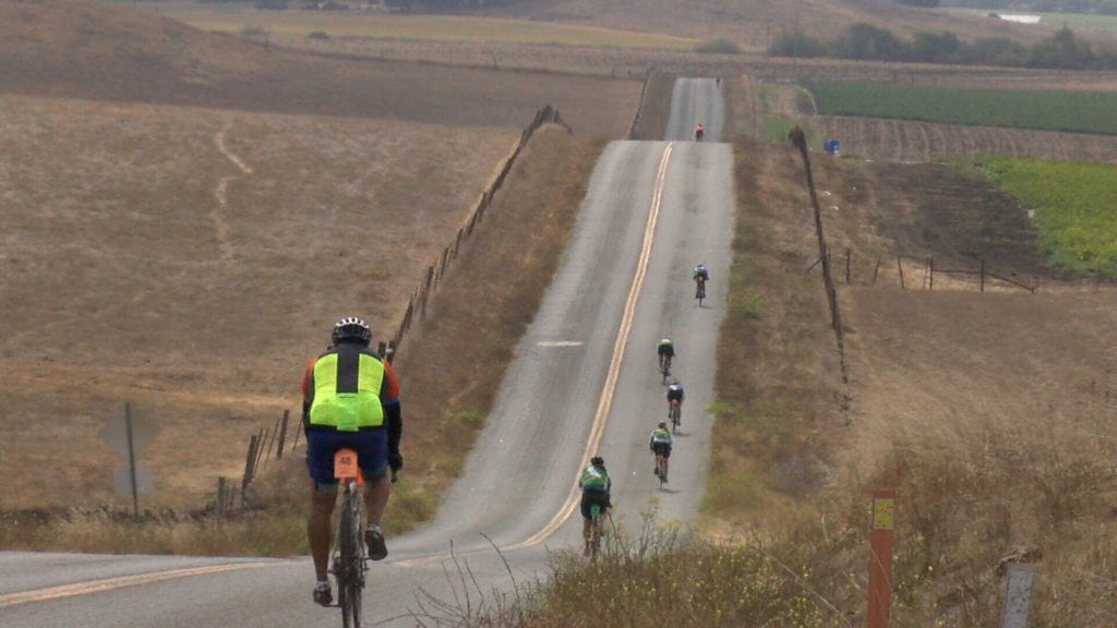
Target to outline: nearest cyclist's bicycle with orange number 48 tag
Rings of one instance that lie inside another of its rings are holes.
[[[361,628],[361,593],[364,572],[369,570],[363,530],[364,499],[361,497],[361,469],[356,451],[340,449],[334,455],[334,476],[342,491],[341,515],[334,536],[334,564],[330,570],[337,583],[337,606],[344,628]]]

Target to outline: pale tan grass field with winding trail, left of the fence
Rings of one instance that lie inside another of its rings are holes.
[[[127,399],[163,426],[147,457],[162,498],[197,502],[218,473],[235,475],[247,434],[297,409],[302,365],[341,312],[394,330],[517,135],[2,103],[2,150],[20,159],[0,170],[0,372],[10,383],[0,473],[61,448],[74,453],[64,477],[93,503],[111,488],[96,469],[114,463],[95,434]],[[28,479],[4,483],[0,499],[61,497],[38,491],[51,476]]]

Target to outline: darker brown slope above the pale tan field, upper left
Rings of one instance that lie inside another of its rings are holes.
[[[7,94],[515,129],[551,104],[621,137],[642,79],[324,58],[86,0],[0,2],[0,23]]]

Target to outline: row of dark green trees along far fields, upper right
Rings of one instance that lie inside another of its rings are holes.
[[[775,38],[771,55],[781,57],[831,57],[873,61],[925,64],[992,65],[1060,69],[1117,69],[1117,54],[1108,48],[1095,50],[1063,27],[1051,37],[1024,46],[1004,37],[962,41],[951,32],[917,32],[909,40],[867,23],[856,23],[829,41],[802,32]]]

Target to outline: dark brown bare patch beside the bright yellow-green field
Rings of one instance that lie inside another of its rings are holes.
[[[933,163],[870,163],[817,155],[817,182],[827,240],[839,280],[900,286],[904,258],[909,288],[930,287],[927,264],[942,270],[990,273],[1033,285],[1057,278],[1039,250],[1027,209],[987,181]],[[935,276],[936,287],[951,280]],[[978,286],[971,277],[972,289]]]

